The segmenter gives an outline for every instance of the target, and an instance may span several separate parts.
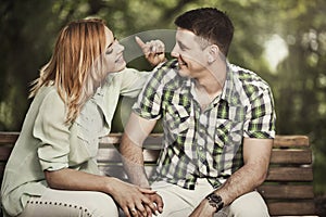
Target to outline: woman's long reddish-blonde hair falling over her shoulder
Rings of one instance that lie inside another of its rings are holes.
[[[70,23],[57,39],[50,61],[40,69],[29,97],[53,85],[64,101],[66,123],[73,122],[106,76],[105,23],[88,18]]]

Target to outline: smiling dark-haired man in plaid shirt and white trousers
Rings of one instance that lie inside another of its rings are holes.
[[[159,210],[164,204],[160,216],[268,216],[255,188],[275,137],[271,89],[226,61],[234,27],[225,13],[191,10],[175,24],[175,60],[153,73],[125,129],[121,152],[129,179],[156,190],[149,196]],[[150,186],[141,144],[159,118],[163,150]]]

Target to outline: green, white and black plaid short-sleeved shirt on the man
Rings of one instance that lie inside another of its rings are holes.
[[[274,138],[275,111],[268,85],[256,74],[227,64],[222,94],[202,110],[195,82],[177,62],[155,69],[134,105],[147,119],[163,118],[163,150],[155,180],[195,189],[197,178],[220,187],[243,165],[242,139]]]

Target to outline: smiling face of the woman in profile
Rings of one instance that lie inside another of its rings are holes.
[[[126,62],[123,56],[125,48],[114,38],[113,33],[105,27],[105,52],[104,60],[108,64],[108,73],[116,73],[126,67]]]

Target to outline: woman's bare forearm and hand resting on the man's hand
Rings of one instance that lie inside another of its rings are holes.
[[[154,194],[154,191],[129,184],[114,177],[98,176],[70,168],[45,170],[45,176],[51,189],[98,191],[110,194],[126,216],[131,216],[130,210],[134,208],[147,216],[145,206],[156,210],[153,203],[145,195]]]

